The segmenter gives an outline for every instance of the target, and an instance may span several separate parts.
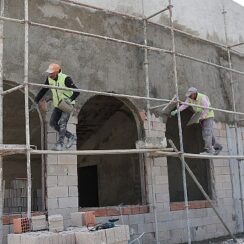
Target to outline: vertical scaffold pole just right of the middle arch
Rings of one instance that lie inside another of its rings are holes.
[[[143,33],[144,33],[144,45],[147,46],[147,20],[143,21]],[[144,50],[144,71],[145,71],[145,83],[146,83],[146,97],[147,97],[147,122],[148,122],[148,135],[151,136],[151,112],[150,112],[150,81],[149,81],[149,62],[148,62],[148,50]],[[152,201],[153,201],[153,213],[155,219],[155,239],[156,243],[159,244],[159,236],[158,236],[158,216],[157,216],[157,206],[153,185],[153,162],[154,159],[150,160],[150,168],[151,168],[151,184],[152,184]]]

